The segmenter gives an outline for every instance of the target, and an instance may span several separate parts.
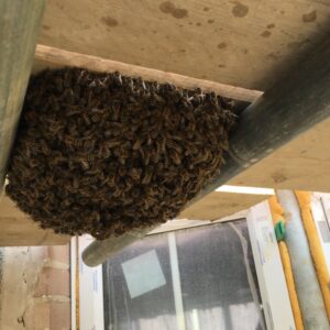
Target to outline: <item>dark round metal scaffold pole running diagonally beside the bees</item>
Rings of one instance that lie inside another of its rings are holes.
[[[238,128],[230,136],[230,153],[221,175],[187,206],[330,117],[329,31],[242,112]],[[128,232],[121,239],[95,241],[84,251],[82,258],[87,265],[97,266],[135,240]]]

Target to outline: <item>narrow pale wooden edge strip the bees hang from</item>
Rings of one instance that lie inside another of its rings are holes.
[[[34,73],[37,73],[44,68],[59,68],[65,66],[82,67],[89,70],[101,73],[120,72],[122,75],[142,77],[145,80],[174,84],[188,89],[195,89],[198,87],[204,91],[215,91],[223,97],[249,102],[252,102],[262,96],[262,92],[258,90],[233,87],[220,82],[196,79],[97,56],[37,45],[35,51]]]

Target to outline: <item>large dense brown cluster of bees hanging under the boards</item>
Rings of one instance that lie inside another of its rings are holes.
[[[78,68],[31,78],[7,194],[42,228],[97,239],[174,218],[223,164],[230,100]]]

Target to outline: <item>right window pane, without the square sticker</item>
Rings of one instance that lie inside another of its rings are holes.
[[[187,329],[196,328],[196,314],[202,329],[260,327],[241,240],[232,224],[213,224],[176,234]],[[234,226],[249,242],[245,220],[234,221]],[[253,266],[252,253],[250,267],[251,263]]]

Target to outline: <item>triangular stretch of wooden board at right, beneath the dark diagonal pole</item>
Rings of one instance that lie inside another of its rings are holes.
[[[229,185],[330,191],[330,119],[248,168]]]

